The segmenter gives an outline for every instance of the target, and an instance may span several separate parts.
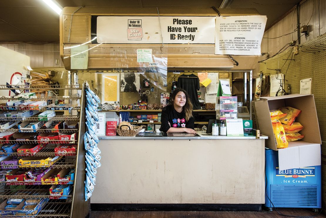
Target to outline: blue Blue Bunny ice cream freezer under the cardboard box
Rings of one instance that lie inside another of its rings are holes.
[[[321,208],[321,166],[278,169],[278,152],[265,149],[265,207]],[[266,196],[268,195],[268,197]]]

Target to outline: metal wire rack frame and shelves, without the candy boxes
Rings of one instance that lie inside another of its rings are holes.
[[[60,132],[65,134],[73,134],[76,133],[74,140],[68,141],[61,141],[61,140],[50,140],[49,144],[47,144],[44,148],[42,148],[38,153],[6,153],[6,156],[15,156],[18,159],[25,158],[25,157],[54,157],[54,148],[58,145],[76,145],[76,153],[71,153],[74,156],[62,156],[62,158],[52,165],[2,165],[3,167],[6,166],[17,166],[23,170],[28,169],[35,169],[35,168],[44,168],[47,169],[51,167],[52,169],[75,169],[75,177],[72,185],[72,192],[70,195],[65,195],[67,199],[50,199],[46,205],[42,208],[42,210],[35,215],[34,217],[39,218],[59,218],[59,217],[71,217],[71,218],[85,218],[90,209],[90,201],[85,201],[84,199],[84,181],[85,177],[85,149],[84,149],[84,142],[83,142],[83,135],[85,133],[85,112],[81,110],[81,108],[85,108],[85,88],[86,85],[83,84],[82,86],[79,85],[45,85],[45,86],[7,86],[7,85],[0,85],[0,89],[20,89],[20,90],[31,90],[31,89],[42,89],[42,90],[49,90],[49,89],[82,89],[82,97],[66,97],[66,96],[51,96],[51,97],[38,97],[37,101],[46,101],[46,100],[78,100],[80,99],[81,106],[67,106],[62,107],[67,110],[56,110],[59,112],[77,110],[78,115],[71,115],[71,116],[64,116],[64,115],[56,115],[55,117],[49,117],[48,120],[51,121],[79,121],[79,128],[78,129],[38,129],[36,133],[42,132]],[[30,98],[29,101],[33,101],[34,98]],[[17,98],[11,97],[0,97],[0,100],[18,100]],[[7,106],[0,106],[1,109],[9,109]],[[26,107],[16,107],[16,110],[26,110]],[[28,108],[29,109],[29,108]],[[46,110],[46,107],[39,108],[40,112]],[[59,113],[60,114],[60,113]],[[38,114],[32,117],[24,117],[23,121],[38,121]],[[0,117],[0,121],[22,121],[22,117]],[[18,129],[15,127],[9,129],[3,129],[3,131],[20,134],[18,133]],[[23,134],[23,133],[22,133]],[[67,143],[69,142],[69,143]],[[0,140],[1,144],[39,144],[38,140]],[[43,159],[43,158],[42,158]],[[28,185],[21,186],[20,182],[17,181],[1,181],[0,182],[0,201],[2,202],[4,199],[7,198],[50,198],[49,189],[53,184],[53,181],[42,182],[48,183],[46,185],[39,185],[40,181],[35,181],[34,185],[31,185],[31,181],[28,181]],[[64,182],[63,182],[64,183]],[[63,184],[62,183],[62,184]],[[67,182],[66,182],[67,183]],[[24,191],[24,193],[20,192]],[[21,193],[21,194],[19,194]],[[2,199],[2,200],[1,200]],[[6,216],[6,217],[20,217],[20,216]]]

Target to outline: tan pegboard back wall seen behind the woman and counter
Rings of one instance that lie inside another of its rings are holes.
[[[82,84],[84,81],[88,81],[93,91],[96,92],[96,94],[102,98],[102,75],[103,73],[117,73],[119,71],[114,70],[107,70],[107,71],[78,71],[78,82],[79,84]],[[124,72],[138,72],[142,73],[143,71],[137,71],[137,70],[125,70]],[[143,88],[143,79],[147,78],[150,80],[150,87],[154,87],[154,92],[151,92],[148,95],[148,102],[149,103],[156,103],[160,104],[160,98],[162,92],[171,92],[171,85],[172,81],[178,81],[179,75],[186,74],[194,74],[198,75],[198,72],[218,72],[218,71],[182,71],[180,73],[173,73],[168,72],[166,77],[158,76],[159,73],[154,72],[145,72],[144,74],[140,74],[140,83],[141,83],[141,90],[150,90],[150,88]],[[229,72],[229,79],[230,83],[232,82],[232,73]],[[164,83],[167,83],[167,86],[164,87]],[[157,82],[157,85],[154,85],[154,82]],[[232,83],[230,84],[232,86]],[[205,94],[205,87],[200,87],[199,92],[201,92],[201,100],[204,100],[204,94]],[[122,105],[128,105],[131,103],[135,103],[140,99],[140,94],[138,92],[120,92],[120,104]],[[101,99],[102,100],[102,99]]]

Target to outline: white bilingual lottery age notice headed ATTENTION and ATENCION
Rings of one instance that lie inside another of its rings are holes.
[[[260,55],[267,17],[216,17],[215,54]]]

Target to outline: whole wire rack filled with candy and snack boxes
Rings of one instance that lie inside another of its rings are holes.
[[[7,101],[0,104],[0,215],[86,217],[81,110],[85,85],[0,85],[0,89],[82,89],[82,97],[29,92],[0,97]]]

